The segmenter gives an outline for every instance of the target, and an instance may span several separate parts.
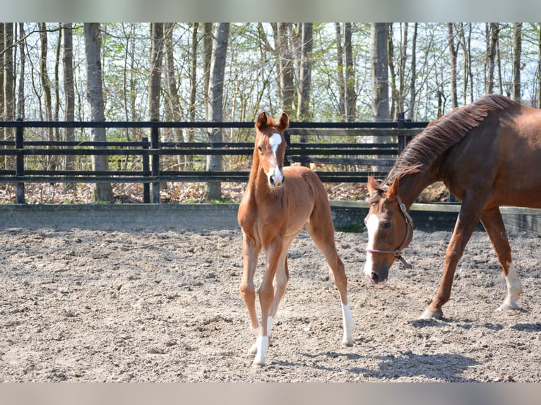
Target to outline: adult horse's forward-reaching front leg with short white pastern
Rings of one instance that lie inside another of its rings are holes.
[[[477,211],[479,211],[477,213]],[[436,296],[432,303],[424,310],[420,319],[441,319],[444,315],[441,307],[449,301],[451,298],[451,286],[453,285],[453,277],[455,275],[456,266],[458,261],[462,258],[464,253],[464,248],[466,243],[470,240],[475,226],[479,223],[481,217],[482,209],[477,209],[472,212],[471,209],[468,209],[467,203],[463,203],[460,208],[460,214],[458,214],[458,219],[456,220],[455,230],[453,231],[453,236],[449,242],[447,252],[445,255],[445,268],[444,275],[441,277],[441,283],[439,285],[438,291],[436,291]]]

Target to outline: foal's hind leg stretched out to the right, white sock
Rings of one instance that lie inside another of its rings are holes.
[[[355,321],[351,315],[350,304],[347,301],[347,277],[345,275],[344,263],[336,251],[330,207],[328,212],[326,210],[323,213],[315,215],[313,213],[306,225],[306,229],[316,246],[325,256],[329,267],[331,267],[334,284],[340,293],[344,330],[342,343],[345,346],[353,346],[353,327],[355,326]]]

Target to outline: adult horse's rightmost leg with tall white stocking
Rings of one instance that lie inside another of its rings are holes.
[[[489,235],[492,246],[496,250],[496,255],[504,269],[504,275],[507,284],[507,297],[498,310],[520,309],[516,302],[521,294],[521,281],[518,279],[513,260],[511,260],[511,246],[504,226],[504,220],[501,218],[499,207],[492,207],[484,210],[481,222]]]

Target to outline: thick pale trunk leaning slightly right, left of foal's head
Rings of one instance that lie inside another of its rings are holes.
[[[217,23],[214,30],[213,52],[210,60],[207,121],[223,121],[222,99],[229,30],[230,23]],[[210,142],[222,142],[222,128],[214,128],[210,133],[209,140]],[[209,155],[207,158],[207,170],[222,171],[222,157],[220,155]],[[222,183],[220,181],[207,183],[205,197],[208,201],[220,200],[222,197]]]

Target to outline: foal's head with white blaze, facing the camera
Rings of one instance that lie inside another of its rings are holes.
[[[254,162],[258,157],[259,167],[265,171],[268,184],[271,188],[279,188],[283,185],[283,174],[286,142],[284,131],[290,126],[290,118],[285,112],[278,120],[268,117],[261,112],[256,119],[256,148],[254,150]]]

